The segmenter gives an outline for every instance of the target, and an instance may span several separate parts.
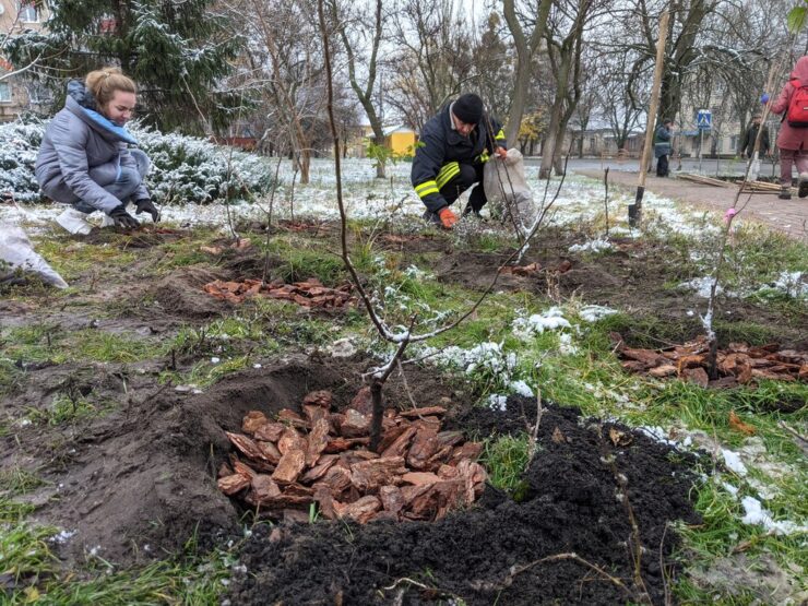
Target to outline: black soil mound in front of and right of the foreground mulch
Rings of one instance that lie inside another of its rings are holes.
[[[455,421],[480,435],[516,430],[525,426],[523,405],[535,406],[511,399],[504,414],[474,409]],[[615,445],[611,428],[625,445]],[[258,526],[242,555],[249,574],[235,587],[234,603],[421,604],[452,596],[480,605],[626,603],[639,590],[623,494],[644,549],[645,589],[662,603],[676,572],[676,537],[666,525],[699,521],[688,499],[688,468],[672,462],[668,448],[611,424],[584,423],[574,408],[547,408],[539,442],[522,502],[488,487],[474,508],[432,524],[318,523],[272,533]],[[511,567],[569,552],[628,591],[569,559],[509,578]]]

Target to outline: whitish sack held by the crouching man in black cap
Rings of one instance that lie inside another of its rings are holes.
[[[533,191],[527,187],[524,159],[519,150],[508,150],[507,158],[492,157],[486,163],[483,187],[491,212],[506,218],[512,215],[523,230],[533,223],[536,216]]]

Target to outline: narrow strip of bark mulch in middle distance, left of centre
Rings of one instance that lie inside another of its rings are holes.
[[[249,297],[270,297],[296,302],[304,307],[316,307],[320,309],[342,308],[356,302],[356,297],[350,295],[349,284],[329,288],[316,277],[305,282],[286,284],[283,280],[274,280],[263,283],[260,280],[245,280],[242,282],[216,280],[209,282],[202,289],[215,297],[233,304],[243,302]]]

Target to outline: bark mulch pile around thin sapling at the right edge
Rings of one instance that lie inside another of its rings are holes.
[[[627,347],[619,334],[610,336],[618,356],[626,360],[622,367],[651,377],[678,377],[703,388],[733,388],[759,379],[808,381],[808,352],[781,349],[776,344],[752,347],[730,343],[718,350],[718,378],[711,380],[710,345],[704,336],[663,349]]]

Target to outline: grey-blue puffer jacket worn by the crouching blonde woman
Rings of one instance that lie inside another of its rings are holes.
[[[36,180],[56,202],[83,200],[109,214],[122,201],[104,189],[120,177],[121,166],[138,170],[128,145],[129,132],[95,110],[92,93],[79,80],[68,84],[68,98],[50,121],[36,158]],[[148,198],[141,185],[133,200]]]

